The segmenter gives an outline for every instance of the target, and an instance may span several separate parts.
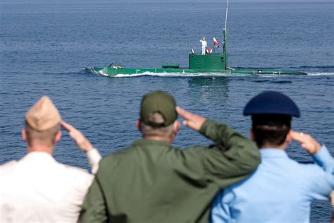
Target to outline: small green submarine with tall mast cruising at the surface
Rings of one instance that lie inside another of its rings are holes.
[[[222,74],[254,74],[254,75],[306,75],[307,73],[292,70],[271,70],[271,69],[233,69],[228,66],[228,32],[226,23],[228,18],[228,0],[226,3],[225,27],[223,28],[223,52],[217,52],[206,47],[205,54],[195,54],[191,50],[189,54],[188,67],[180,67],[180,64],[162,64],[161,68],[125,68],[121,64],[109,64],[106,67],[85,68],[94,73],[100,73],[104,76],[117,76],[120,74],[137,75],[137,74],[154,74],[154,73],[222,73]],[[215,46],[218,45],[214,38]]]

